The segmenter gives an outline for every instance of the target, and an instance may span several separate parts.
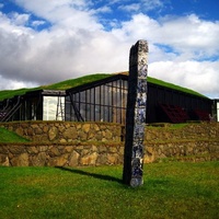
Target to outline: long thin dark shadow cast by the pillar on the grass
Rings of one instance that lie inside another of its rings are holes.
[[[87,175],[87,176],[91,176],[91,177],[95,177],[95,178],[100,178],[100,180],[104,180],[104,181],[111,181],[111,182],[117,182],[123,184],[123,181],[120,178],[111,176],[111,175],[103,175],[103,174],[97,174],[97,173],[89,173],[87,171],[82,171],[82,170],[77,170],[77,169],[68,169],[68,168],[64,168],[64,166],[55,166],[56,169],[59,169],[61,171],[68,171],[71,173],[77,173],[77,174],[81,174],[81,175]]]

